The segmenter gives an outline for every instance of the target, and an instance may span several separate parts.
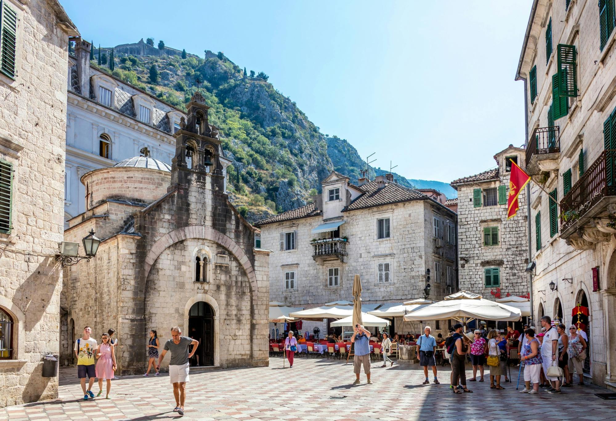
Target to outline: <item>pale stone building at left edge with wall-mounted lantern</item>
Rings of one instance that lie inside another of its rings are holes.
[[[42,367],[44,355],[59,351],[63,80],[68,36],[78,32],[57,1],[0,6],[3,25],[9,14],[17,19],[14,77],[0,73],[0,311],[12,322],[0,316],[0,406],[7,406],[58,396],[57,376],[42,377]]]

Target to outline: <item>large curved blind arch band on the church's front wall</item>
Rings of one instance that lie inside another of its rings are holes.
[[[177,230],[170,231],[166,233],[161,238],[156,240],[153,244],[148,254],[145,256],[145,264],[144,264],[144,284],[147,284],[148,275],[150,275],[150,270],[152,269],[152,265],[158,259],[158,256],[167,249],[179,241],[183,241],[189,238],[198,238],[198,239],[206,239],[209,241],[213,241],[214,243],[220,244],[225,249],[229,250],[233,257],[238,260],[241,267],[246,272],[246,276],[248,276],[248,281],[250,282],[251,292],[257,291],[257,277],[254,273],[253,265],[250,263],[250,259],[248,255],[238,246],[235,241],[233,241],[228,236],[224,235],[220,231],[214,230],[211,227],[204,227],[203,225],[190,225],[189,227],[177,228]]]

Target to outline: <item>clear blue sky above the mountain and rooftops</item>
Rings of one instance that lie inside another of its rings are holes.
[[[323,134],[407,178],[450,182],[524,143],[532,0],[60,2],[96,45],[152,37],[264,71]]]

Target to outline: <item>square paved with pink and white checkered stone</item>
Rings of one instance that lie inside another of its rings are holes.
[[[353,386],[352,364],[338,359],[300,357],[293,369],[282,368],[282,358],[270,358],[269,367],[205,371],[190,375],[184,420],[613,420],[616,401],[594,385],[563,388],[562,395],[525,395],[513,383],[506,390],[490,390],[489,382],[469,382],[474,393],[454,395],[448,388],[450,370],[439,367],[440,385],[421,385],[416,364],[381,368],[372,364],[374,384]],[[472,374],[468,369],[467,375]],[[486,375],[486,379],[489,377]],[[576,379],[577,380],[577,379]],[[105,387],[103,383],[103,387]],[[98,383],[92,388],[97,393]],[[103,395],[104,396],[104,395]],[[165,420],[174,399],[167,374],[114,380],[112,399],[83,401],[76,369],[60,369],[60,398],[55,401],[0,409],[1,420]]]

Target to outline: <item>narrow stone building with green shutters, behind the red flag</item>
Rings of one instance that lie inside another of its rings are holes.
[[[495,300],[509,295],[529,294],[528,276],[525,273],[528,259],[526,192],[518,196],[517,215],[507,219],[508,194],[498,197],[498,189],[508,193],[509,172],[506,162],[515,157],[522,167],[525,151],[509,146],[494,156],[497,168],[482,174],[464,177],[451,183],[458,191],[458,280],[460,289],[481,294]],[[488,198],[488,191],[496,193]],[[476,199],[476,192],[480,198]],[[505,198],[505,201],[502,199]],[[492,241],[496,228],[497,241]],[[485,230],[490,230],[486,244]],[[493,284],[492,268],[498,268],[498,284]],[[488,279],[486,282],[486,270]]]

